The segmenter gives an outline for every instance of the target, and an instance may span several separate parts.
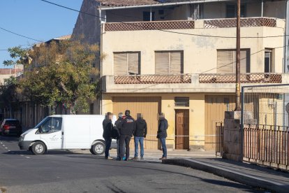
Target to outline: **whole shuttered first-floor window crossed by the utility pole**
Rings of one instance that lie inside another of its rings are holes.
[[[250,72],[250,49],[242,49],[240,53],[241,73]],[[217,50],[217,73],[236,72],[236,50]]]

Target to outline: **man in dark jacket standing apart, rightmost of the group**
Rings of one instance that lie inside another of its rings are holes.
[[[157,138],[161,141],[161,148],[163,149],[163,157],[160,159],[167,159],[167,146],[165,145],[165,138],[167,138],[168,120],[165,119],[165,115],[160,113],[158,115],[158,134]]]

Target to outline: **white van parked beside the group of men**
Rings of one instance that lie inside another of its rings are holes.
[[[87,149],[94,155],[105,151],[103,120],[105,115],[52,115],[45,117],[34,129],[19,139],[20,150],[42,155],[47,150]],[[112,123],[116,121],[115,115]],[[112,147],[117,148],[116,140]]]

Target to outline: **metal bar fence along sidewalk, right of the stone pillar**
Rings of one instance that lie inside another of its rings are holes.
[[[275,125],[244,125],[244,161],[277,169],[289,168],[289,129]]]

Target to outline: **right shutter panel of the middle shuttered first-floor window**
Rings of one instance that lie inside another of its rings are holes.
[[[170,52],[170,73],[184,73],[184,64],[182,61],[182,52]]]

